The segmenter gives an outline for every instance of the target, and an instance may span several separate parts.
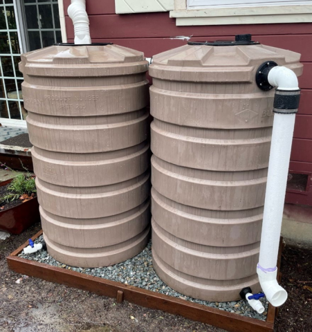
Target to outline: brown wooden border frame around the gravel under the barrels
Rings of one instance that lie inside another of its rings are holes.
[[[33,241],[42,234],[40,230],[32,237]],[[280,266],[283,249],[282,237],[279,243],[279,259],[277,266]],[[55,282],[69,287],[79,288],[84,291],[90,291],[98,295],[116,298],[118,303],[128,301],[138,306],[166,311],[174,315],[181,315],[187,319],[217,326],[230,332],[273,332],[275,316],[277,310],[275,307],[268,305],[268,315],[266,322],[255,318],[245,317],[236,313],[228,313],[217,308],[210,308],[183,299],[159,294],[152,291],[146,291],[143,288],[129,286],[120,282],[100,277],[93,277],[72,270],[65,270],[56,266],[30,261],[17,257],[19,253],[28,246],[24,243],[17,250],[7,257],[8,267],[17,273],[30,275],[44,279],[48,282]],[[279,279],[281,274],[279,273]]]

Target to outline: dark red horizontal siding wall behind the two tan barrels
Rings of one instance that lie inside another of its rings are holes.
[[[73,42],[73,24],[67,17],[70,0],[64,0],[68,42]],[[302,100],[295,124],[290,171],[312,174],[312,24],[255,24],[233,26],[176,26],[168,12],[116,15],[114,0],[88,0],[93,42],[113,42],[135,48],[152,57],[157,53],[185,45],[176,36],[191,40],[233,39],[239,33],[251,33],[253,39],[270,46],[302,54],[304,73],[300,77]],[[309,181],[311,183],[311,181]],[[312,185],[306,192],[288,192],[286,202],[312,205]]]

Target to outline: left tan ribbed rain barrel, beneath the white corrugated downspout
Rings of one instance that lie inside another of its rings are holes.
[[[145,248],[149,113],[143,53],[102,44],[21,55],[44,239],[58,261],[125,261]]]

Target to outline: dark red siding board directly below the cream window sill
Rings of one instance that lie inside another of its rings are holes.
[[[176,26],[176,20],[168,12],[152,12],[135,15],[90,16],[91,37],[106,38],[155,38],[176,36],[234,36],[239,33],[252,35],[298,35],[312,33],[312,24],[246,24],[229,26]],[[68,38],[73,39],[73,24],[66,17]]]

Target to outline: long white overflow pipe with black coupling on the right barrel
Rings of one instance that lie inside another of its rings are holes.
[[[287,299],[287,292],[277,283],[276,265],[300,89],[297,76],[291,69],[273,66],[268,68],[267,73],[268,84],[271,85],[269,89],[273,86],[277,89],[257,274],[268,302],[281,306]]]

